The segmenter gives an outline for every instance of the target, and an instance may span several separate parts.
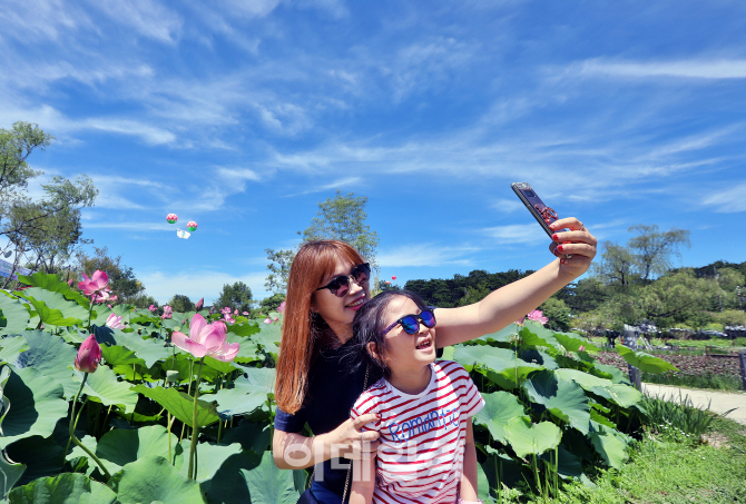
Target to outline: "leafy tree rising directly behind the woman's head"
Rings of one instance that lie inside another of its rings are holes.
[[[371,266],[377,269],[375,250],[379,235],[365,224],[367,197],[355,197],[354,192],[342,195],[340,189],[333,198],[318,204],[317,217],[303,231],[303,240],[338,239],[352,245]]]

